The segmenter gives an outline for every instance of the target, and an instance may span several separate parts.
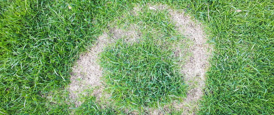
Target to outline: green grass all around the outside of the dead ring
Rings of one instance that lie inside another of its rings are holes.
[[[85,98],[87,101],[79,108],[72,108],[74,104],[65,87],[79,53],[85,51],[110,22],[117,22],[119,17],[130,12],[132,4],[143,6],[146,3],[0,1],[0,113],[123,114],[114,107],[92,108],[91,97]],[[174,9],[186,9],[204,24],[209,42],[214,45],[198,114],[274,114],[273,1],[162,3]],[[68,5],[72,9],[68,9]],[[242,11],[236,12],[236,9]],[[169,25],[161,21],[166,18],[161,12],[148,12],[138,19],[117,23],[151,22],[151,27],[165,32],[164,38],[170,38],[174,31],[162,28]],[[157,26],[158,22],[163,22],[162,26]]]

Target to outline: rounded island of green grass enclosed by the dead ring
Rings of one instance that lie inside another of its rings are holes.
[[[118,41],[100,54],[100,65],[120,108],[164,106],[185,97],[185,85],[171,48],[155,41]]]

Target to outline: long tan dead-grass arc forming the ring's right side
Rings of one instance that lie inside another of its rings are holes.
[[[181,63],[181,72],[185,75],[184,80],[189,85],[187,98],[180,104],[174,103],[177,109],[183,110],[183,114],[195,114],[198,109],[198,101],[203,95],[205,86],[205,72],[209,67],[209,45],[201,24],[193,21],[184,12],[170,10],[171,19],[176,22],[178,31],[190,41],[182,41],[189,44],[185,49],[177,48],[179,57],[187,59]],[[190,45],[191,44],[191,45]],[[186,55],[190,53],[191,56]]]

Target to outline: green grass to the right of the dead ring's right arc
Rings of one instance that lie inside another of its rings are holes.
[[[273,2],[209,2],[209,20],[191,6],[215,45],[200,113],[273,114]]]

